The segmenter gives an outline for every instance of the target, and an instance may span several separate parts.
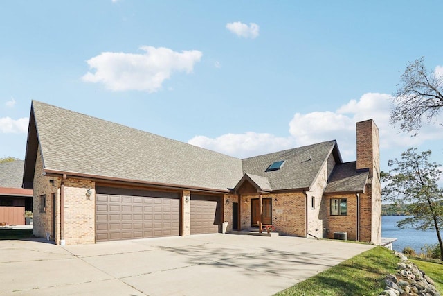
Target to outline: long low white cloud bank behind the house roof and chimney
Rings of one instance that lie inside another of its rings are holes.
[[[350,100],[335,112],[294,114],[289,122],[288,137],[246,132],[224,134],[214,139],[197,136],[188,143],[235,157],[251,157],[335,139],[343,160],[349,161],[355,159],[355,123],[367,119],[374,119],[379,127],[380,146],[383,149],[404,150],[411,146],[419,146],[424,141],[443,139],[442,130],[437,125],[424,127],[417,137],[399,134],[390,126],[390,108],[390,95],[368,93],[358,100]]]

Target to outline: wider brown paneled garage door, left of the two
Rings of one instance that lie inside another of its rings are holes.
[[[96,241],[178,236],[179,193],[96,187]]]

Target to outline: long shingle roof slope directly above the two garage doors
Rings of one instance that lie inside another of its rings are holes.
[[[46,103],[33,112],[48,170],[221,191],[243,175],[235,157]]]

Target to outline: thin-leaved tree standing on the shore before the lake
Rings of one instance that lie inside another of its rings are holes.
[[[404,228],[435,229],[440,244],[440,260],[443,261],[443,189],[437,184],[443,176],[442,166],[429,162],[431,150],[417,152],[409,148],[401,153],[401,159],[390,160],[389,173],[383,173],[383,198],[393,204],[401,204],[411,216],[397,224]]]

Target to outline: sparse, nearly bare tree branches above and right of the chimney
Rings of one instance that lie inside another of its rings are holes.
[[[443,75],[426,69],[422,57],[406,64],[400,80],[390,123],[400,123],[401,130],[416,135],[422,123],[435,121],[443,107]]]

